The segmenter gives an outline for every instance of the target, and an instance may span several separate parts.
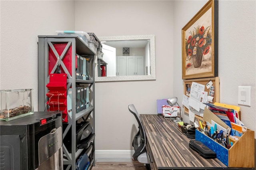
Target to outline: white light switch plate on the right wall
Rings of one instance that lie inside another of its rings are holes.
[[[251,106],[250,86],[238,86],[238,104]]]

